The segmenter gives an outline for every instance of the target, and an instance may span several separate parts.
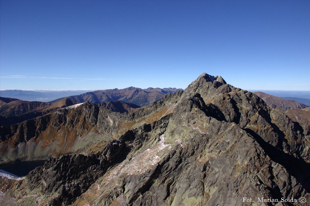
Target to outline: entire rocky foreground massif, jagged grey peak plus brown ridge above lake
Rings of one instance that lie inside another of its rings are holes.
[[[220,76],[129,114],[85,102],[0,132],[2,162],[49,157],[0,179],[2,205],[310,204],[309,125]]]

